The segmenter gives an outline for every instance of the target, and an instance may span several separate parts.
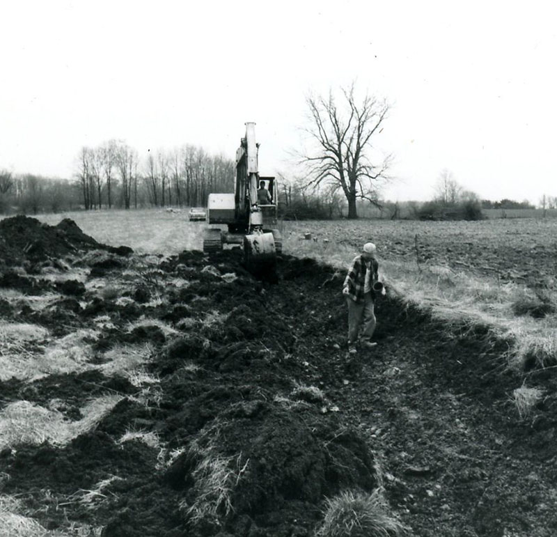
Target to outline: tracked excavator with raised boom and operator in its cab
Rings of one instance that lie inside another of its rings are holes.
[[[276,265],[282,252],[281,233],[276,229],[278,188],[274,177],[260,176],[259,143],[256,124],[246,123],[246,135],[236,151],[236,178],[233,193],[209,194],[209,224],[227,226],[207,228],[203,235],[203,251],[221,251],[224,244],[241,244],[244,263],[252,272],[265,271]]]

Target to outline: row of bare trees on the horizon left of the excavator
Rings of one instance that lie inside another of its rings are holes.
[[[210,192],[233,192],[235,164],[186,145],[140,157],[124,141],[83,147],[72,179],[0,170],[0,214],[207,204]]]

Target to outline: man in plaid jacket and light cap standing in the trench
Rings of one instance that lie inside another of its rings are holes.
[[[373,283],[377,281],[379,263],[377,248],[372,242],[363,245],[362,253],[352,260],[343,285],[343,295],[348,305],[348,352],[357,352],[356,343],[361,328],[361,345],[373,348],[371,336],[375,331],[375,293]]]

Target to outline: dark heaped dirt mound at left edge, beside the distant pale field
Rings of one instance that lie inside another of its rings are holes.
[[[38,219],[23,215],[0,221],[0,263],[3,265],[22,265],[24,261],[37,263],[91,249],[107,249],[118,255],[132,252],[128,247],[114,248],[97,242],[69,218],[56,226],[41,224]]]

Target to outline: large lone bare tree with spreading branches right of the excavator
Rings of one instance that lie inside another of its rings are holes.
[[[356,200],[379,206],[378,187],[387,179],[391,155],[379,156],[375,139],[389,104],[368,94],[357,100],[354,84],[340,93],[340,99],[332,90],[327,98],[306,98],[311,126],[305,131],[311,148],[301,161],[308,166],[308,184],[327,183],[329,192],[331,187],[340,189],[348,202],[348,218],[354,219],[358,217]]]

